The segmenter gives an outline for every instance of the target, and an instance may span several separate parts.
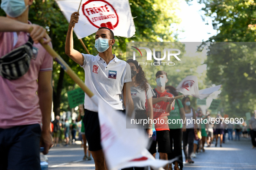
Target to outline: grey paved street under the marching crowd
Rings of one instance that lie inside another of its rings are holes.
[[[252,149],[249,138],[229,141],[222,146],[205,148],[204,153],[193,158],[194,164],[184,164],[183,170],[256,170],[256,149]],[[50,170],[95,170],[93,160],[82,160],[84,154],[80,145],[54,147],[47,156]]]

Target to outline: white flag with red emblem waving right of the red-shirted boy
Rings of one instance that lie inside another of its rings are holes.
[[[195,98],[204,99],[207,98],[214,91],[219,90],[220,88],[221,85],[217,85],[215,87],[198,90],[197,76],[187,76],[178,84],[176,90],[185,95],[191,95]]]

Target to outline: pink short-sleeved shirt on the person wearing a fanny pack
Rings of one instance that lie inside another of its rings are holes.
[[[0,57],[25,44],[29,39],[26,32],[0,32]],[[52,44],[49,44],[52,46]],[[52,71],[52,57],[41,44],[33,44],[33,56],[28,72],[16,80],[0,76],[0,128],[40,124],[42,113],[39,108],[37,79],[39,72]],[[3,97],[4,96],[4,97]]]

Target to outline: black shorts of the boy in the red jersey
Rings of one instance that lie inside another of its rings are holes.
[[[156,141],[152,140],[152,144],[149,148],[151,154],[156,153],[156,143],[158,143],[158,152],[171,153],[169,130],[156,131]]]

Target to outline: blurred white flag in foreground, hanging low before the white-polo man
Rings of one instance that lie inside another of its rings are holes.
[[[161,167],[178,159],[156,160],[146,149],[149,139],[144,129],[126,129],[129,120],[124,114],[96,95],[91,99],[98,105],[101,145],[110,170],[145,166],[163,170]]]

